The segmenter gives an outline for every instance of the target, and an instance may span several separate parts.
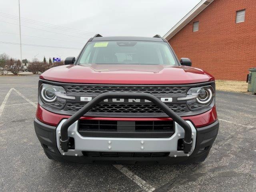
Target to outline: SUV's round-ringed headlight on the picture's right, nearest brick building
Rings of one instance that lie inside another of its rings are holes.
[[[178,101],[187,101],[188,108],[194,111],[209,106],[214,95],[212,86],[193,87],[188,90],[186,97],[180,97]]]

